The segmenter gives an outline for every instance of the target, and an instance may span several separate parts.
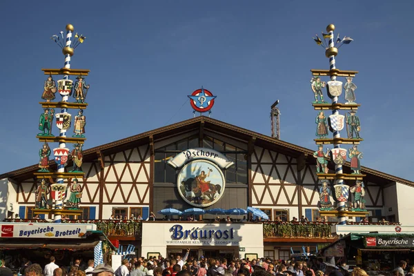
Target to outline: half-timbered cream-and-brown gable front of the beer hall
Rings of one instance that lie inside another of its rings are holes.
[[[285,221],[302,215],[310,220],[319,216],[314,150],[208,117],[196,117],[85,150],[82,168],[86,174],[79,179],[82,217],[108,219],[115,214],[146,218],[150,211],[161,208],[190,207],[178,194],[179,170],[168,165],[168,160],[190,148],[213,149],[234,162],[224,170],[223,197],[209,208],[255,206],[271,219]],[[56,168],[55,162],[50,161],[50,166]],[[71,161],[68,166],[72,166]],[[333,164],[329,168],[333,171]],[[3,207],[8,210],[4,217],[11,210],[30,217],[34,191],[39,185],[33,175],[37,170],[34,165],[1,175],[10,195]],[[344,164],[344,172],[351,172],[348,163]],[[364,199],[370,216],[398,219],[397,199],[387,194],[391,190],[402,193],[405,187],[412,189],[413,183],[365,167],[362,172],[366,175]],[[396,188],[397,185],[404,187]],[[348,204],[351,201],[352,195]]]

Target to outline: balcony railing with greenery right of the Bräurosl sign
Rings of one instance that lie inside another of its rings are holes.
[[[266,237],[313,237],[331,238],[331,222],[279,222],[268,221],[263,224],[263,236]]]

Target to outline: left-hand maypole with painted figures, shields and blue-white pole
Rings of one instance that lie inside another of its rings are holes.
[[[86,85],[83,79],[88,75],[89,70],[71,69],[70,59],[74,54],[75,48],[86,39],[83,35],[75,34],[75,39],[72,39],[72,33],[74,28],[71,24],[66,26],[66,39],[63,37],[63,31],[59,34],[55,34],[51,37],[53,41],[62,49],[65,56],[65,64],[61,69],[42,69],[45,75],[49,75],[45,81],[43,87],[42,99],[46,102],[40,102],[43,107],[43,114],[40,117],[39,129],[43,132],[37,135],[39,141],[43,142],[43,148],[39,152],[41,161],[39,162],[39,170],[35,173],[38,179],[42,179],[42,186],[37,191],[36,202],[37,207],[34,209],[35,214],[54,215],[54,221],[56,223],[61,222],[61,215],[81,215],[79,204],[81,202],[81,186],[79,184],[79,178],[83,178],[83,171],[81,164],[83,161],[82,146],[86,138],[83,133],[85,132],[86,117],[83,115],[83,110],[88,106],[84,102],[88,93],[89,85]],[[56,86],[52,75],[63,75],[63,79],[57,81]],[[72,86],[73,81],[70,80],[70,75],[79,75],[77,77],[75,86]],[[72,91],[73,90],[73,91]],[[55,93],[59,91],[61,95],[61,101],[52,102],[55,99]],[[75,103],[69,102],[69,97],[72,95],[76,98]],[[55,108],[60,108],[61,112],[55,115]],[[78,115],[75,116],[75,124],[73,126],[75,135],[67,137],[67,131],[72,126],[72,115],[68,113],[68,109],[79,109]],[[59,128],[59,136],[52,135],[52,121],[56,116],[56,126]],[[53,149],[55,155],[55,163],[57,164],[57,171],[52,172],[49,168],[50,161],[50,148],[48,143],[59,143],[58,148]],[[69,148],[66,148],[66,144],[75,144],[74,150],[70,152]],[[73,170],[65,171],[65,167],[68,164],[70,157],[72,157]],[[42,165],[42,166],[41,166]],[[50,182],[50,186],[46,185],[46,179]],[[56,179],[56,183],[54,183]],[[44,184],[44,185],[43,185]],[[66,199],[66,195],[70,191],[70,197],[66,204],[69,208],[63,207],[63,201]],[[55,201],[55,206],[48,206],[48,195],[51,195]],[[39,204],[41,203],[41,204]]]

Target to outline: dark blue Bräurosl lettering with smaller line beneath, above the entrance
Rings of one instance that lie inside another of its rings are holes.
[[[171,241],[167,244],[215,244],[215,245],[238,245],[235,240],[235,230],[233,227],[223,228],[190,228],[184,230],[180,224],[175,224],[170,228]]]

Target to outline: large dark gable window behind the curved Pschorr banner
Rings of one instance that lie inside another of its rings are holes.
[[[197,137],[189,137],[173,144],[159,148],[155,151],[155,170],[154,179],[158,183],[175,183],[177,176],[176,170],[167,164],[170,158],[175,157],[179,152],[188,148],[199,148],[199,140]],[[247,159],[246,150],[237,148],[219,139],[205,136],[203,139],[203,147],[217,150],[235,164],[224,171],[226,183],[242,183],[247,184]]]

